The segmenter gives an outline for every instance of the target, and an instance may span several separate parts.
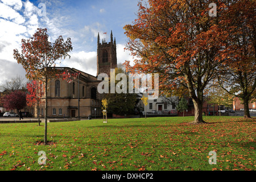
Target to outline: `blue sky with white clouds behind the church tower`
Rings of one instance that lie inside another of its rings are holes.
[[[137,5],[138,0],[0,0],[0,85],[17,76],[26,81],[13,50],[21,52],[21,40],[37,28],[47,28],[50,42],[60,35],[71,38],[71,59],[57,61],[57,66],[96,76],[98,32],[101,40],[110,42],[111,31],[117,42],[117,63],[133,61],[124,50],[128,38],[123,27],[137,18]]]

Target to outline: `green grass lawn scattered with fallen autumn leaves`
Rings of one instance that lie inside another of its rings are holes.
[[[256,119],[204,117],[0,124],[0,170],[255,170]],[[42,123],[44,125],[44,123]],[[39,141],[39,142],[38,142]],[[39,151],[46,164],[39,165]],[[210,151],[217,164],[209,164]]]

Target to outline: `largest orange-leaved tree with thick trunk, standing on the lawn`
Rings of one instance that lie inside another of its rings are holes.
[[[141,1],[137,19],[124,27],[129,38],[126,49],[138,57],[133,66],[126,61],[127,69],[159,73],[159,89],[165,92],[187,92],[195,106],[193,123],[205,123],[204,89],[224,61],[220,55],[227,32],[218,26],[223,3],[218,3],[217,17],[209,16],[210,3],[148,0],[144,5]]]

